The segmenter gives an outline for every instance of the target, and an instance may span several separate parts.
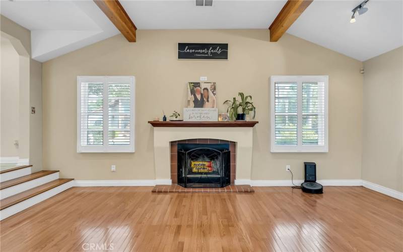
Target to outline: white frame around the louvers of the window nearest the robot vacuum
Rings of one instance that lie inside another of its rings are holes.
[[[328,152],[328,76],[272,76],[270,78],[271,97],[271,152]],[[276,145],[276,113],[275,113],[275,83],[295,82],[297,83],[297,145]],[[323,145],[302,145],[302,83],[318,82],[324,83],[324,144]]]

